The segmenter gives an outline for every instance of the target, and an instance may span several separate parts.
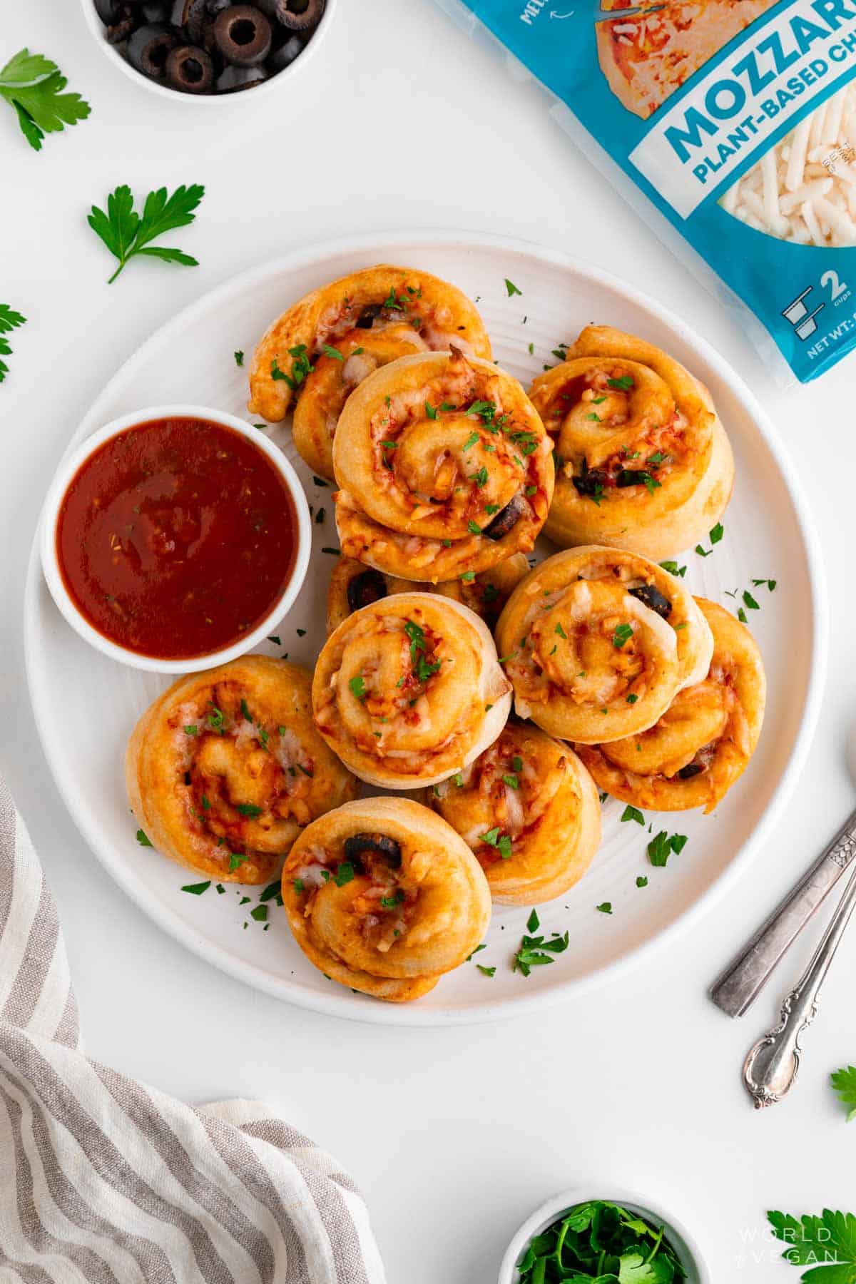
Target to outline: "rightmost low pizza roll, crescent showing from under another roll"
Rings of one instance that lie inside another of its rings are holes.
[[[648,731],[608,745],[579,746],[602,790],[656,811],[712,811],[744,772],[761,734],[766,682],[749,630],[703,597],[714,634],[701,682],[684,687]]]

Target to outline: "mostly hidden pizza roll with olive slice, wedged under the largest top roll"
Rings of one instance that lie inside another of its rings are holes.
[[[513,553],[504,562],[481,571],[475,579],[447,579],[439,584],[418,584],[412,579],[384,575],[372,566],[363,566],[352,557],[340,557],[330,577],[327,589],[327,634],[339,628],[352,611],[377,602],[393,593],[434,592],[463,602],[480,615],[489,629],[499,619],[511,591],[529,574],[524,553]]]

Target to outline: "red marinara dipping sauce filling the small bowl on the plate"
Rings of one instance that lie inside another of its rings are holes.
[[[296,515],[285,480],[240,433],[158,419],[99,446],[56,520],[65,589],[94,628],[159,660],[239,642],[282,594]]]

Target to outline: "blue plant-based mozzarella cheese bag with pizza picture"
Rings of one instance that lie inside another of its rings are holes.
[[[601,3],[439,0],[551,91],[778,372],[816,379],[856,344],[856,0]]]

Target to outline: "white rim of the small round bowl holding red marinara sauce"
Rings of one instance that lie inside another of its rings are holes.
[[[219,651],[210,651],[208,655],[191,656],[178,660],[160,660],[154,656],[140,655],[137,651],[130,651],[127,647],[119,646],[118,642],[112,642],[110,638],[99,633],[99,630],[94,628],[94,625],[91,625],[81,614],[65,588],[56,553],[56,520],[59,517],[59,508],[63,498],[65,497],[65,490],[77,474],[77,470],[90,457],[90,455],[98,449],[99,446],[103,446],[104,442],[108,442],[112,437],[117,437],[128,428],[136,428],[137,424],[148,424],[157,419],[210,420],[214,424],[222,424],[225,428],[231,428],[235,433],[245,437],[257,449],[262,452],[262,455],[268,457],[285,482],[286,489],[291,496],[298,521],[296,548],[294,553],[294,569],[291,571],[291,578],[280,597],[277,597],[276,602],[271,606],[271,610],[267,612],[262,623],[258,624],[252,633],[243,637],[240,642],[234,642],[231,646],[222,647]],[[89,642],[89,645],[95,647],[96,651],[100,651],[101,655],[107,655],[112,660],[118,660],[119,664],[127,664],[132,669],[145,669],[148,673],[200,673],[203,669],[213,669],[218,664],[226,664],[228,660],[236,660],[240,655],[245,655],[248,651],[252,651],[254,646],[258,646],[258,643],[268,636],[273,625],[276,625],[293,606],[298,593],[300,592],[300,587],[303,586],[303,580],[309,566],[309,551],[312,548],[312,521],[309,520],[307,497],[303,493],[300,479],[286,460],[282,451],[273,446],[273,443],[270,442],[257,428],[252,428],[243,419],[237,419],[236,415],[227,415],[222,410],[210,410],[207,406],[148,406],[144,410],[133,411],[131,415],[122,415],[121,419],[114,419],[110,424],[99,429],[98,433],[92,433],[92,435],[87,437],[86,440],[77,447],[77,449],[72,451],[71,455],[67,455],[59,465],[47,489],[41,510],[40,523],[39,544],[45,580],[47,582],[50,596],[71,627],[80,634],[80,637],[83,638],[85,642]]]

